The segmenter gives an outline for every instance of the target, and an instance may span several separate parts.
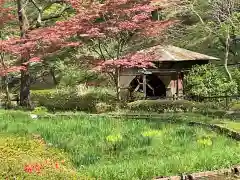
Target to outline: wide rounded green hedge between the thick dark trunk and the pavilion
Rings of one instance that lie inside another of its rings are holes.
[[[79,110],[96,112],[96,104],[99,102],[113,103],[115,96],[109,91],[90,88],[79,92],[76,88],[64,88],[56,90],[32,91],[31,96],[37,106],[44,106],[48,110]]]

